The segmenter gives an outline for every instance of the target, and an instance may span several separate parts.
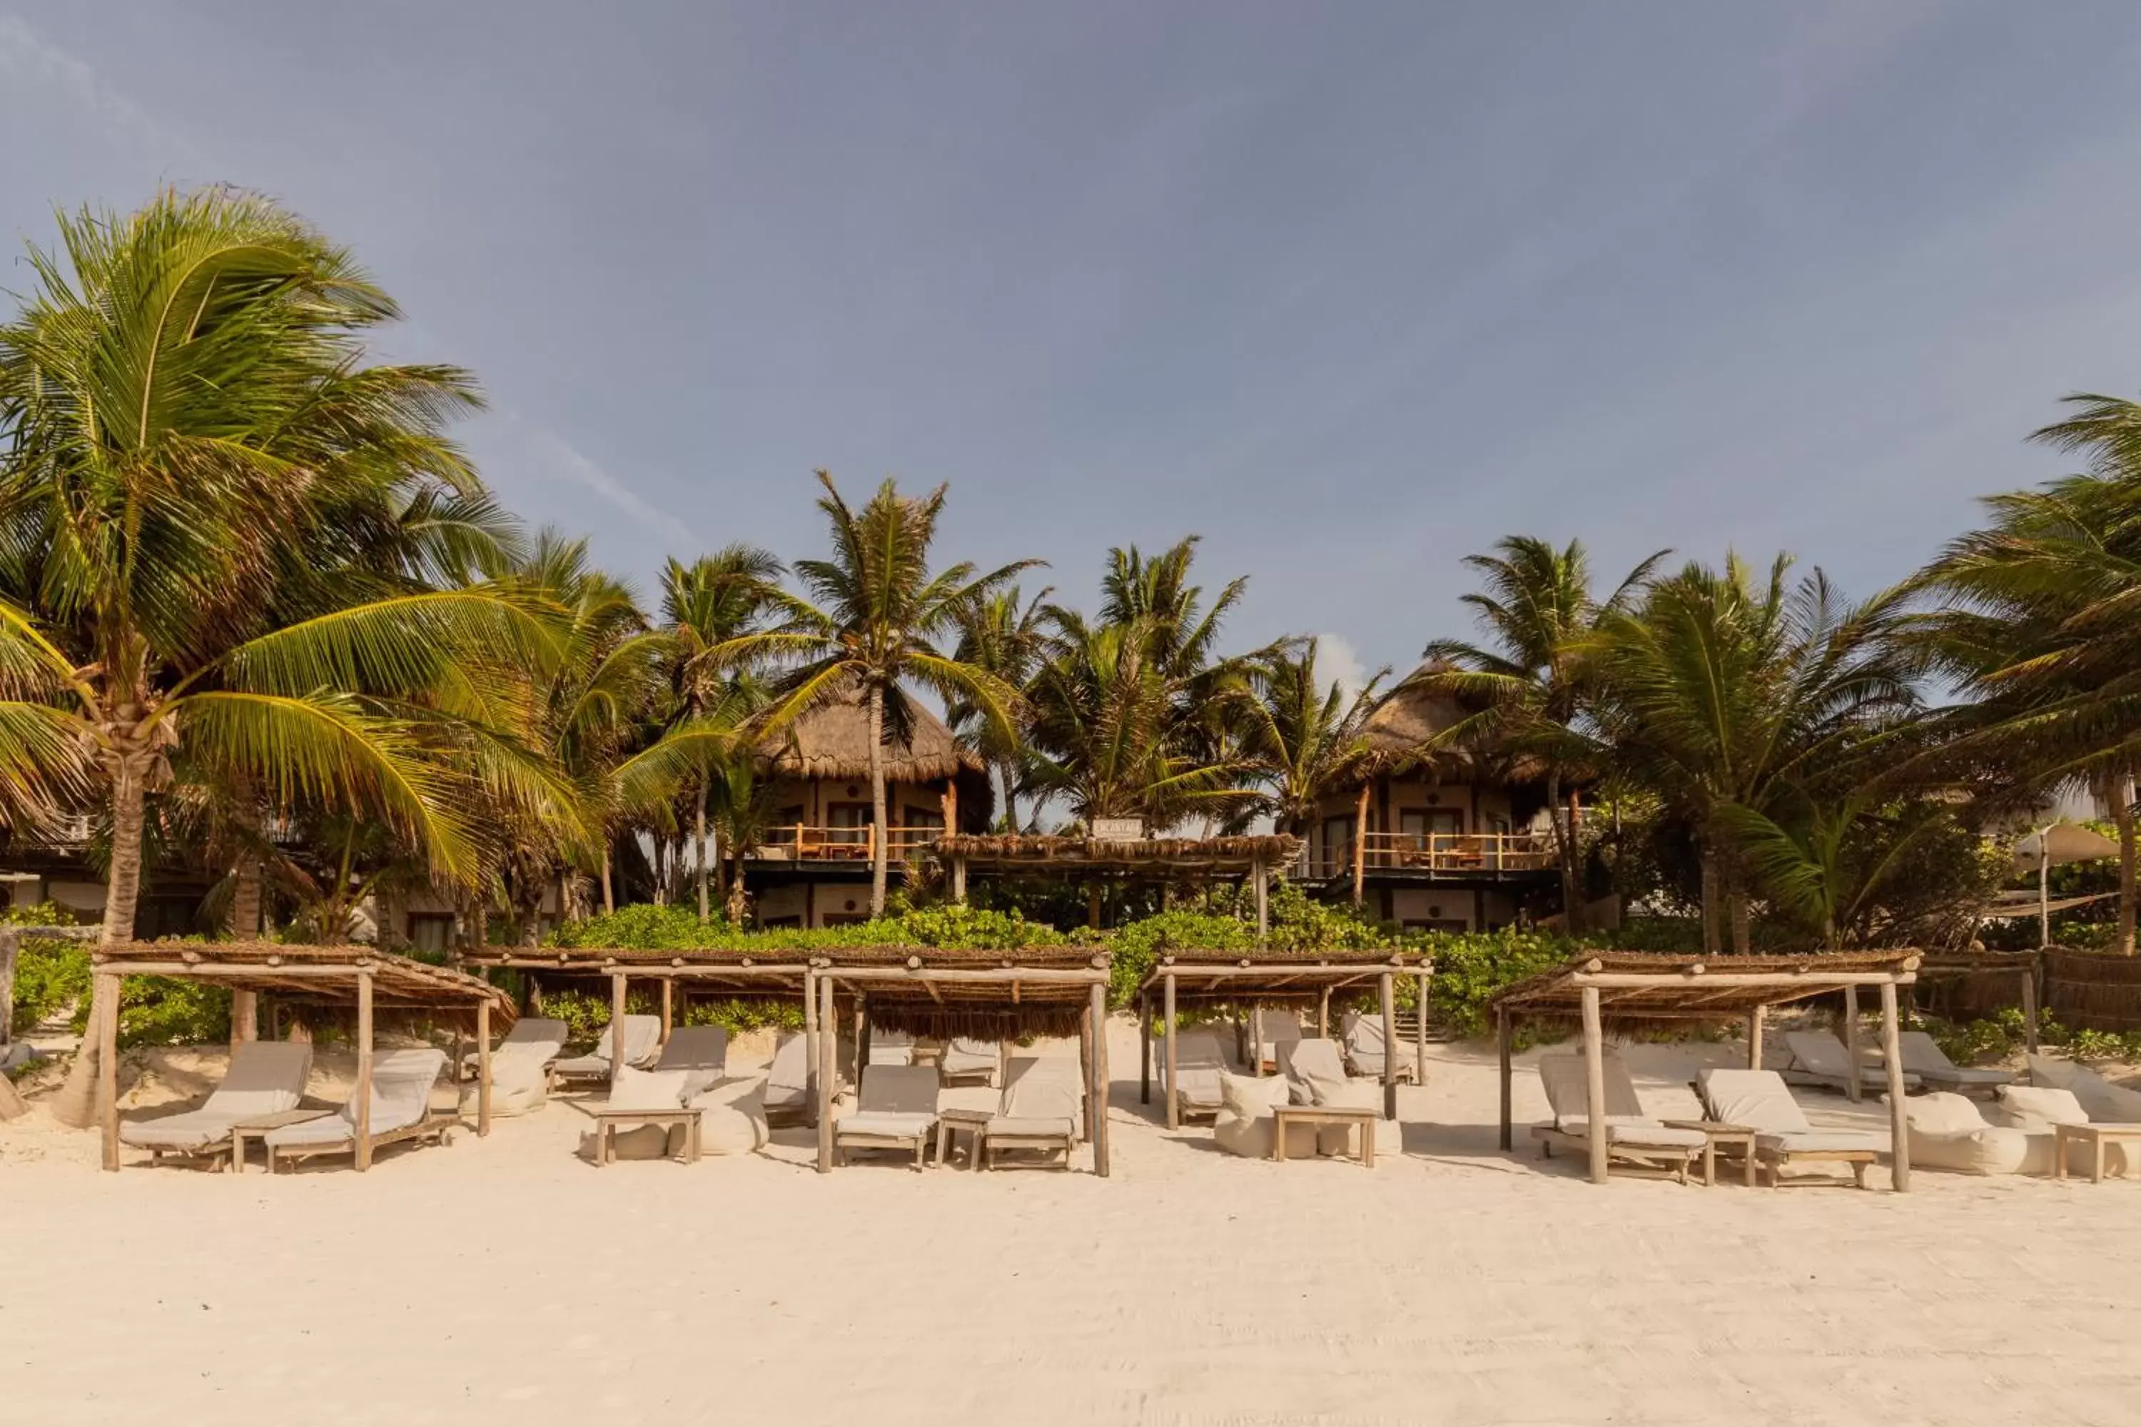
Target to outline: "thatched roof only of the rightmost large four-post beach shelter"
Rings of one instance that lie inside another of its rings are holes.
[[[1783,1006],[1856,984],[1916,980],[1916,950],[1809,952],[1805,956],[1683,956],[1664,952],[1591,952],[1552,971],[1503,986],[1497,1012],[1529,1018],[1582,1014],[1586,986],[1599,993],[1599,1014],[1619,1025],[1646,1021],[1734,1021],[1758,1006]]]

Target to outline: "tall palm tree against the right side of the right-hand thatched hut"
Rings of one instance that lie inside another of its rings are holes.
[[[1488,644],[1434,640],[1413,682],[1479,708],[1445,740],[1490,747],[1544,770],[1546,817],[1561,862],[1561,907],[1574,931],[1582,916],[1576,886],[1582,849],[1574,809],[1563,809],[1561,792],[1571,777],[1601,766],[1601,749],[1584,727],[1597,680],[1582,650],[1599,620],[1627,612],[1668,552],[1636,565],[1606,601],[1597,601],[1582,541],[1554,550],[1544,539],[1512,535],[1494,550],[1464,556],[1486,584],[1486,590],[1464,595],[1464,603]]]

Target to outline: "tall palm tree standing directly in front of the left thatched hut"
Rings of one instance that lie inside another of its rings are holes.
[[[794,573],[809,599],[786,597],[788,620],[779,631],[743,635],[732,646],[739,657],[764,650],[801,659],[762,719],[766,734],[779,734],[835,697],[861,695],[867,702],[869,914],[884,916],[884,745],[908,740],[914,721],[908,697],[916,685],[946,704],[972,704],[998,738],[1015,736],[1019,691],[944,653],[942,640],[957,633],[970,605],[1038,561],[1015,561],[985,576],[961,561],[929,573],[944,486],[927,496],[901,496],[889,479],[856,511],[839,496],[831,475],[818,471],[818,484],[824,486],[818,509],[831,524],[833,558],[796,561]]]

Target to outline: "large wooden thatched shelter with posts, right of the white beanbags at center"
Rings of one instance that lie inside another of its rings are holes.
[[[1574,1021],[1584,1027],[1584,1115],[1601,1123],[1606,1104],[1604,1025],[1685,1025],[1745,1021],[1747,1068],[1762,1068],[1762,1023],[1771,1006],[1843,993],[1843,1044],[1858,1065],[1858,988],[1880,988],[1882,1055],[1888,1061],[1888,1136],[1895,1187],[1910,1190],[1910,1134],[1903,1110],[1903,1050],[1897,1040],[1897,986],[1918,980],[1920,956],[1895,952],[1811,952],[1807,956],[1672,956],[1595,952],[1503,986],[1490,1006],[1501,1042],[1501,1147],[1512,1147],[1509,1050],[1516,1023]],[[1856,1100],[1856,1095],[1852,1095]],[[1591,1183],[1606,1183],[1606,1138],[1591,1145]]]

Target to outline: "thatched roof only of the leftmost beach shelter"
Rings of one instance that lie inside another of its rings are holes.
[[[96,971],[118,976],[180,976],[212,980],[233,991],[263,991],[280,1001],[355,1006],[358,976],[373,976],[377,1010],[415,1010],[439,1016],[473,1014],[490,1001],[492,1031],[510,1031],[514,999],[480,976],[450,971],[373,946],[283,946],[278,941],[124,941],[90,952]]]

